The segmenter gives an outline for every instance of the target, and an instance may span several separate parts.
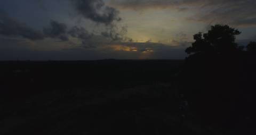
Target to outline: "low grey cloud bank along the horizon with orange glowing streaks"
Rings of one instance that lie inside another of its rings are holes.
[[[183,59],[187,56],[182,47],[160,43],[101,44],[97,48],[90,49],[81,46],[63,47],[63,49],[58,49],[59,47],[31,49],[31,43],[26,39],[0,38],[0,43],[5,45],[0,46],[2,54],[0,60]],[[55,43],[50,42],[48,46],[55,46]]]

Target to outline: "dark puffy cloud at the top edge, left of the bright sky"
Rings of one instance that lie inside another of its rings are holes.
[[[105,5],[102,0],[70,0],[74,3],[76,10],[85,18],[97,23],[109,25],[114,21],[120,21],[119,11]]]

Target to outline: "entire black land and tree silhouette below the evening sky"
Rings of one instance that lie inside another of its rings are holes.
[[[255,48],[215,25],[183,60],[0,62],[0,134],[254,134]]]

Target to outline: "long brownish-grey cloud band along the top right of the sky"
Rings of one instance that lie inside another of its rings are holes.
[[[112,0],[110,3],[121,9],[132,10],[194,10],[195,15],[189,20],[228,23],[234,26],[256,25],[255,0]]]

